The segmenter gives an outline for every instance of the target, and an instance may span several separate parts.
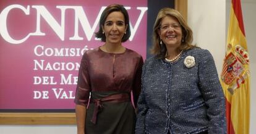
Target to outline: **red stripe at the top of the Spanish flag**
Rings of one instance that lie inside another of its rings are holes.
[[[232,0],[233,10],[234,14],[236,15],[236,18],[239,23],[239,27],[242,31],[242,34],[245,36],[244,32],[244,22],[242,21],[242,8],[241,8],[241,1]]]

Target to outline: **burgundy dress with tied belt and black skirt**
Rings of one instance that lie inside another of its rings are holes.
[[[135,112],[130,100],[133,98],[137,107],[142,65],[142,56],[130,49],[111,54],[96,48],[83,54],[75,103],[89,105],[86,134],[134,133]]]

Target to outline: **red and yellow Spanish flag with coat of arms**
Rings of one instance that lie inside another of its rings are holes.
[[[221,85],[226,97],[228,134],[249,134],[250,71],[240,0],[232,0]]]

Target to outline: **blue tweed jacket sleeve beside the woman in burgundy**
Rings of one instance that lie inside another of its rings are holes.
[[[145,115],[147,114],[148,111],[148,106],[145,100],[145,89],[143,88],[143,78],[145,76],[145,71],[146,71],[146,65],[147,61],[145,61],[145,64],[143,65],[142,68],[142,91],[139,95],[138,99],[138,114],[137,114],[137,120],[136,120],[136,127],[135,127],[135,134],[145,134]]]

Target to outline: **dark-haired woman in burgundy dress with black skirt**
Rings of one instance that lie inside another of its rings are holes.
[[[106,7],[96,37],[105,44],[86,51],[80,64],[75,93],[77,133],[134,133],[135,111],[130,92],[137,107],[143,59],[122,46],[130,37],[129,15],[124,6]]]

